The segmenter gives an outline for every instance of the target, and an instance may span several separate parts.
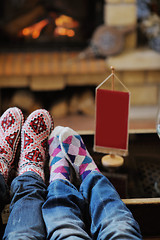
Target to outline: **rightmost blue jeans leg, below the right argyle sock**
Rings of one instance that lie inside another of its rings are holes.
[[[93,239],[142,239],[137,222],[106,177],[90,173],[80,192],[88,204]]]

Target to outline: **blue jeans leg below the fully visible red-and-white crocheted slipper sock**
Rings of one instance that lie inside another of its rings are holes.
[[[46,195],[46,185],[36,173],[26,172],[13,180],[10,216],[3,239],[46,239],[42,217]]]

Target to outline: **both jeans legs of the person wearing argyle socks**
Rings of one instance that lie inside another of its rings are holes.
[[[142,239],[131,212],[98,172],[79,191],[65,180],[52,182],[42,213],[47,239]]]

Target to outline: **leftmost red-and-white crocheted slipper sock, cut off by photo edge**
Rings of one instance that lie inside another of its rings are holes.
[[[6,181],[15,158],[23,122],[23,114],[17,107],[7,109],[0,118],[0,172]]]

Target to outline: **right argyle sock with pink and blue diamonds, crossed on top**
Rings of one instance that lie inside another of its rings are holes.
[[[60,135],[61,148],[65,157],[74,167],[77,176],[83,181],[92,171],[99,171],[86,149],[81,136],[71,128],[64,128]]]

